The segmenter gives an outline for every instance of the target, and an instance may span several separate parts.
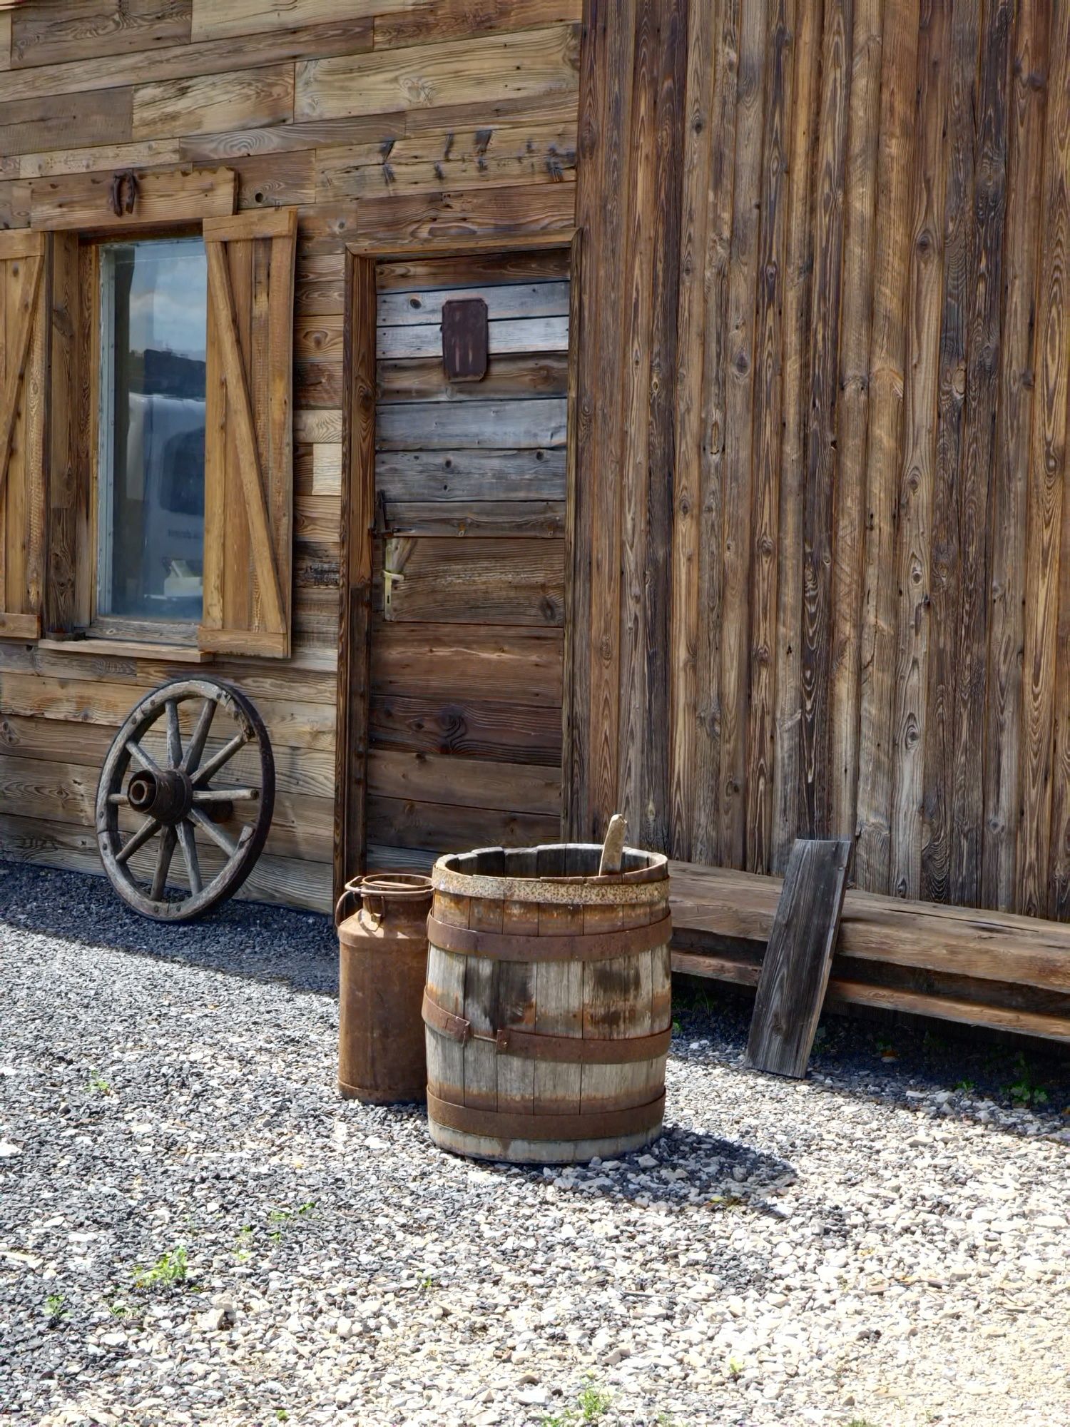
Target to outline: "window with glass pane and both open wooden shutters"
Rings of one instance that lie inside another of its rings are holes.
[[[146,227],[0,233],[0,638],[287,658],[297,211]]]

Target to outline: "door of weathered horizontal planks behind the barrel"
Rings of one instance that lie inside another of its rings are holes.
[[[379,264],[367,863],[561,835],[568,253]],[[486,303],[479,381],[444,301]]]

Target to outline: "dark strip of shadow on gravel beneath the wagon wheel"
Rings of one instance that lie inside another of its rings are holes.
[[[200,922],[148,922],[120,902],[103,876],[0,859],[0,935],[4,928],[280,982],[297,992],[338,993],[335,930],[330,918],[312,912],[227,902]]]

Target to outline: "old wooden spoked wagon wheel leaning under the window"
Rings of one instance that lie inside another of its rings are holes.
[[[200,704],[185,746],[184,704]],[[213,751],[205,756],[210,738]],[[247,758],[258,759],[260,786],[253,786],[254,779],[214,786],[217,775],[243,749],[250,751]],[[188,922],[233,896],[250,875],[264,848],[274,803],[271,743],[245,695],[217,679],[163,684],[133,709],[104,759],[97,786],[97,843],[104,870],[136,912],[157,922]],[[243,813],[251,821],[243,821]],[[201,850],[207,848],[214,862],[223,855],[223,866],[210,878],[201,870],[198,833]],[[181,859],[175,859],[175,850]],[[134,869],[136,856],[147,869],[141,878]]]

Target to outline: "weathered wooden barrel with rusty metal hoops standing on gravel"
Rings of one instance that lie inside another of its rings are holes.
[[[428,918],[428,1123],[442,1149],[561,1164],[656,1139],[672,1035],[669,873],[598,843],[439,858]]]

